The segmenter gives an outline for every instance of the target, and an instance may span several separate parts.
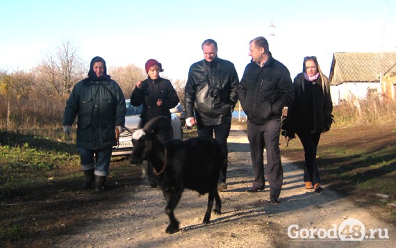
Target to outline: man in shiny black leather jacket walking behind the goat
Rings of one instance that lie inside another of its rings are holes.
[[[215,40],[202,43],[204,60],[194,63],[185,85],[185,118],[189,126],[197,125],[199,137],[213,137],[224,151],[219,190],[225,190],[227,138],[231,129],[233,108],[238,101],[238,74],[233,63],[217,57]]]

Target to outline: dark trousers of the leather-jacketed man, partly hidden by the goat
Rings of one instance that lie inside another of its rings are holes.
[[[199,126],[198,127],[198,136],[199,137],[213,137],[213,133],[215,133],[215,140],[220,143],[220,146],[224,152],[224,160],[223,165],[220,170],[219,183],[226,182],[226,174],[228,167],[228,153],[229,149],[227,147],[227,138],[229,138],[229,133],[231,129],[231,122],[222,123],[215,126]]]

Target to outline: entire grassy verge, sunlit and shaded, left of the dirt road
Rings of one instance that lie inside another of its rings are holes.
[[[0,247],[51,246],[48,240],[90,220],[92,208],[106,211],[106,202],[119,201],[118,192],[140,176],[138,167],[112,163],[111,190],[83,190],[75,140],[40,133],[0,131]]]

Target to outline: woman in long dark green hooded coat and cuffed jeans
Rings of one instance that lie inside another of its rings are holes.
[[[107,75],[106,62],[94,57],[88,78],[74,85],[66,102],[63,130],[69,134],[76,116],[77,149],[85,174],[85,187],[95,181],[97,191],[104,190],[111,152],[125,124],[124,94]]]

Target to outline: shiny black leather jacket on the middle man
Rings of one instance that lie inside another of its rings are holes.
[[[192,64],[185,85],[185,117],[196,117],[204,126],[231,122],[238,84],[236,69],[228,60]]]

